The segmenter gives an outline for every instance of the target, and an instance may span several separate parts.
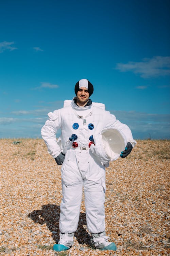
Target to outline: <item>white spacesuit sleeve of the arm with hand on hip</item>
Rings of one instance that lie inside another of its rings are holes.
[[[60,146],[56,141],[56,132],[61,127],[61,118],[58,111],[48,113],[49,119],[41,129],[41,135],[47,145],[48,153],[52,157],[57,157],[61,153]]]

